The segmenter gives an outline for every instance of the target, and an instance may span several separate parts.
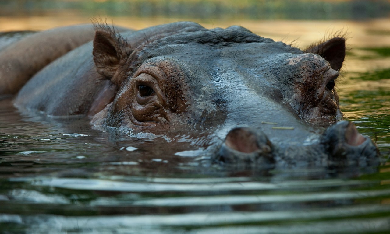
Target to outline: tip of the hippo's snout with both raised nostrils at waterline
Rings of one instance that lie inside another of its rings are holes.
[[[378,150],[368,137],[358,132],[349,121],[328,127],[317,139],[305,145],[273,144],[266,134],[252,128],[230,130],[219,151],[218,160],[236,167],[293,167],[291,158],[314,158],[312,165],[366,167],[378,164]],[[316,159],[317,158],[317,159]]]

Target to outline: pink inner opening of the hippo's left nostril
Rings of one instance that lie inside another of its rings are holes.
[[[243,153],[252,153],[260,150],[255,134],[246,128],[235,128],[231,130],[225,139],[226,146]]]

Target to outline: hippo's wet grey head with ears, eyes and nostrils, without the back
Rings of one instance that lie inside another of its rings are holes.
[[[377,158],[370,139],[339,121],[342,37],[303,51],[240,26],[179,22],[126,38],[98,26],[93,43],[97,72],[115,87],[95,125],[190,141],[217,161],[259,168]]]

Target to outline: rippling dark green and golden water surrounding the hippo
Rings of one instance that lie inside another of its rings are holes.
[[[0,29],[35,30],[83,20],[34,16],[23,26],[26,18],[18,17],[0,21]],[[174,19],[113,21],[142,28]],[[91,129],[84,118],[19,113],[4,99],[0,233],[389,233],[390,19],[204,23],[209,28],[232,24],[275,40],[299,37],[300,47],[331,27],[348,27],[352,49],[337,84],[340,104],[346,119],[376,141],[382,165],[342,174],[227,170],[203,164],[185,144],[177,153],[164,144]]]

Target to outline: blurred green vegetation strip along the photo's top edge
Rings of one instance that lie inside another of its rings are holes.
[[[387,17],[388,0],[3,0],[0,14],[65,9],[109,16],[197,19],[369,19]]]

